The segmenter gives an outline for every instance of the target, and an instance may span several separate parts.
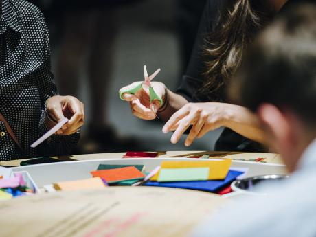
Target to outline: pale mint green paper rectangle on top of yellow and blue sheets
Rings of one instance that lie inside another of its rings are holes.
[[[173,181],[201,181],[207,180],[210,168],[175,168],[161,169],[159,172],[159,182]]]

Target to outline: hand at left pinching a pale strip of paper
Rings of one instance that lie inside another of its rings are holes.
[[[52,96],[46,101],[46,109],[52,120],[59,122],[67,117],[69,121],[57,132],[57,135],[71,135],[84,124],[84,105],[73,96]],[[56,123],[47,120],[47,126]]]

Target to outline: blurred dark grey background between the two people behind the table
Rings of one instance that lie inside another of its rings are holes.
[[[62,95],[85,104],[87,121],[76,153],[126,150],[213,150],[220,130],[186,148],[171,144],[163,122],[133,117],[121,87],[155,80],[177,89],[188,65],[205,0],[29,0],[44,12],[52,71]]]

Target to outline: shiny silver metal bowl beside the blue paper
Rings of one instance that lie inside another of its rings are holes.
[[[236,180],[232,183],[231,187],[234,192],[243,192],[247,194],[264,194],[260,193],[255,190],[257,186],[263,183],[274,183],[275,181],[280,181],[282,179],[289,178],[288,175],[262,175],[262,176],[255,176],[255,177],[249,177],[246,179],[240,179]]]

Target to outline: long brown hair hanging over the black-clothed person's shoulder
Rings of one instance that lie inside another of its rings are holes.
[[[223,85],[241,64],[242,52],[269,16],[260,9],[260,0],[225,0],[217,26],[205,40],[205,83],[201,93],[221,101]]]

